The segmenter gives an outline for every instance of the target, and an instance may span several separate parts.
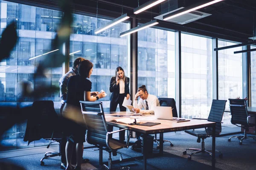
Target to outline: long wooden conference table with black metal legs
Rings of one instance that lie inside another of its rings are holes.
[[[132,131],[143,133],[143,143],[145,143],[147,139],[147,135],[160,133],[160,149],[159,154],[163,156],[163,133],[165,132],[173,132],[180,130],[189,130],[189,129],[197,129],[203,127],[212,127],[213,136],[212,136],[212,169],[215,169],[215,122],[207,122],[205,120],[196,120],[191,119],[189,122],[177,122],[176,120],[163,120],[163,119],[154,119],[154,115],[145,115],[145,116],[136,116],[136,119],[140,120],[140,122],[159,122],[160,125],[154,126],[141,126],[141,125],[128,125],[117,122],[109,122],[113,119],[121,119],[124,117],[116,117],[113,115],[125,115],[131,116],[134,115],[132,112],[116,112],[116,113],[105,113],[105,119],[108,125],[113,125],[116,127],[129,128]],[[134,119],[134,117],[130,117]],[[146,150],[143,149],[143,170],[146,170],[147,166],[147,157]]]

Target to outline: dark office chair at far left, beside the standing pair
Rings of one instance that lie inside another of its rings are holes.
[[[35,101],[32,105],[31,113],[26,126],[26,133],[24,141],[30,142],[39,140],[41,138],[58,142],[58,152],[47,152],[41,159],[41,165],[44,165],[44,159],[51,158],[54,156],[61,156],[60,153],[60,141],[63,137],[61,127],[59,127],[58,115],[55,112],[54,104],[52,101]],[[47,146],[49,148],[50,142]]]

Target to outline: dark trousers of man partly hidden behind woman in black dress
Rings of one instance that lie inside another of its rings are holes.
[[[60,113],[62,116],[62,111],[64,108],[64,104],[61,104],[61,108],[60,108]],[[67,137],[63,136],[63,138],[61,139],[60,145],[61,145],[61,162],[64,164],[67,164],[67,159],[66,159],[66,144],[67,144]],[[76,145],[74,144],[73,147],[73,154],[72,154],[72,164],[76,164]]]

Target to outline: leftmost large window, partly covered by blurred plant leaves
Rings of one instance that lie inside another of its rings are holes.
[[[1,34],[9,23],[17,23],[17,45],[8,59],[0,62],[0,102],[33,102],[32,97],[22,94],[23,82],[29,83],[31,90],[38,85],[34,78],[36,65],[47,55],[31,59],[32,57],[51,51],[52,39],[55,37],[58,23],[63,15],[61,11],[54,11],[34,6],[27,6],[0,0]],[[62,67],[48,71],[49,77],[44,79],[48,85],[57,85],[62,76]],[[46,94],[42,100],[55,101],[55,107],[60,107],[59,92]],[[3,104],[3,103],[2,103]],[[27,147],[23,142],[26,122],[20,122],[7,130],[2,136],[1,144],[12,147]],[[36,141],[29,147],[44,144]]]

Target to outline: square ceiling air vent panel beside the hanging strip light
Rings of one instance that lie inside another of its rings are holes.
[[[184,8],[184,7],[178,8],[178,9],[176,9],[174,11],[180,10],[182,8]],[[161,15],[159,15],[157,17],[154,17],[154,18],[158,19],[158,20],[163,20],[163,16],[165,16],[167,14],[170,14],[170,13],[172,13],[174,11],[170,11],[170,12],[167,12],[165,14],[161,14]],[[189,13],[180,15],[178,17],[174,17],[174,18],[172,18],[170,20],[166,20],[166,21],[171,22],[171,23],[177,23],[177,24],[183,25],[183,24],[190,23],[192,21],[199,20],[201,18],[207,17],[209,15],[211,15],[211,14],[207,14],[207,13],[200,12],[200,11],[191,11]]]

